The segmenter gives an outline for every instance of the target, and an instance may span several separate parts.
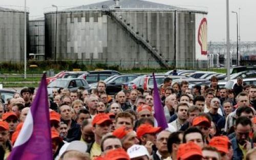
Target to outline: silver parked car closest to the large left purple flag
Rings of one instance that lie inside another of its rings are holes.
[[[69,88],[70,91],[77,90],[79,87],[90,89],[88,82],[81,78],[60,78],[56,79],[52,83],[48,84],[47,91],[48,95],[52,95],[53,89]]]

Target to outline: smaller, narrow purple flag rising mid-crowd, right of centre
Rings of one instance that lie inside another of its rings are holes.
[[[168,128],[166,119],[164,116],[163,106],[161,103],[160,95],[157,88],[157,82],[155,74],[153,73],[154,80],[154,117],[155,117],[155,126],[161,127],[163,130]]]

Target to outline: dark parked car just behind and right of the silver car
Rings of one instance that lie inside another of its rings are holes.
[[[96,83],[100,80],[105,80],[113,75],[121,75],[121,73],[114,70],[102,70],[102,71],[88,71],[82,74],[78,78],[86,79],[89,84]]]

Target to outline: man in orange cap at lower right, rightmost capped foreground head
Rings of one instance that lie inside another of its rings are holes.
[[[215,136],[209,142],[209,146],[215,147],[221,155],[222,160],[231,160],[233,151],[227,136]]]

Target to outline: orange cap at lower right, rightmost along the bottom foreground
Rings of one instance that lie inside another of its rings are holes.
[[[228,153],[229,140],[224,138],[224,136],[215,136],[209,142],[209,146],[215,147],[219,152]]]

